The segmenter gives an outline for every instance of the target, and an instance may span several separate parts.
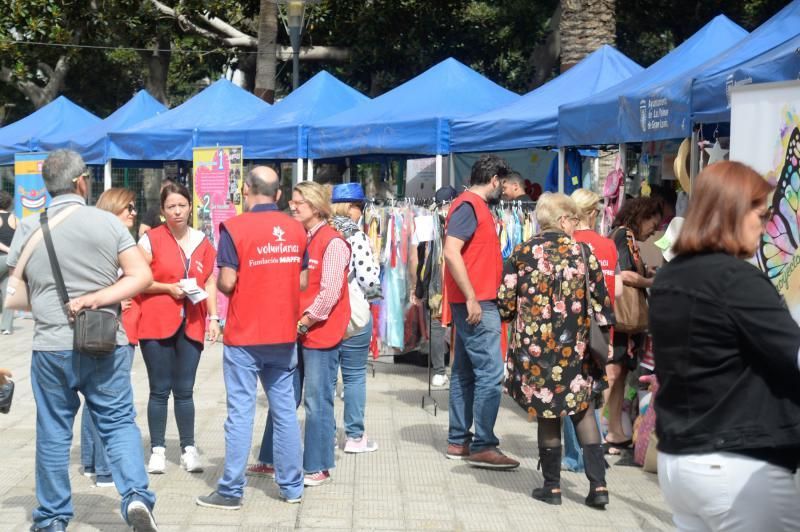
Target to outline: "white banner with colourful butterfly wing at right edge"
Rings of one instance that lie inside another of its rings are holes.
[[[800,81],[731,90],[730,159],[776,186],[756,260],[800,323]]]

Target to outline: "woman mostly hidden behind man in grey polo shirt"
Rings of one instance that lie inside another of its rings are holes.
[[[110,188],[97,198],[95,207],[115,214],[128,230],[133,231],[133,225],[136,222],[135,200],[136,194],[126,188]],[[140,314],[139,300],[138,298],[124,299],[121,305],[122,327],[125,329],[130,345],[125,363],[130,370],[130,366],[133,364],[133,352],[139,343],[136,336]],[[106,450],[100,434],[94,427],[86,403],[83,405],[83,415],[81,416],[81,464],[83,465],[83,474],[87,477],[94,476],[97,487],[114,487]]]

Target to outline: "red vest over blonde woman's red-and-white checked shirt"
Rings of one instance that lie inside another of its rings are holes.
[[[300,292],[300,313],[297,316],[301,316],[301,313],[311,306],[319,294],[322,280],[322,258],[328,244],[334,238],[342,239],[334,228],[326,224],[319,228],[308,243],[308,286]],[[347,289],[349,270],[350,267],[345,266],[339,301],[331,309],[327,320],[315,323],[309,328],[308,334],[301,337],[300,342],[303,347],[328,349],[342,341],[347,324],[350,323],[350,292]]]

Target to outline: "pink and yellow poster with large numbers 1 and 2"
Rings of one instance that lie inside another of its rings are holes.
[[[192,150],[192,225],[202,231],[216,249],[219,224],[241,214],[242,147],[216,146]],[[217,295],[217,311],[225,319],[228,299]]]

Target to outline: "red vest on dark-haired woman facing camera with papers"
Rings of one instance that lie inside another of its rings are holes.
[[[153,261],[150,269],[153,279],[159,283],[177,283],[186,274],[183,253],[167,225],[147,232]],[[214,273],[214,247],[203,238],[189,257],[189,277],[197,279],[197,285],[205,287]],[[175,334],[181,326],[181,309],[186,309],[186,336],[201,344],[206,334],[206,302],[193,305],[188,299],[174,299],[169,294],[140,294],[142,314],[139,319],[139,340],[162,340]]]

